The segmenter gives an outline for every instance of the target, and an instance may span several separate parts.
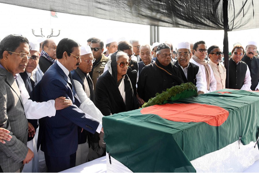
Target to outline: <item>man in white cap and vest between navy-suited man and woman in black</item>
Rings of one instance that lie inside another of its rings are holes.
[[[93,81],[89,76],[89,72],[92,71],[93,63],[95,61],[90,46],[81,46],[81,63],[77,69],[73,70],[72,77],[75,83],[77,95],[82,102],[80,109],[90,116],[98,119],[102,122],[102,113],[94,105],[95,94]],[[77,148],[76,166],[99,158],[105,152],[105,144],[103,144],[104,133],[89,133],[83,130],[80,133],[79,145]],[[99,142],[99,138],[100,141]],[[92,144],[92,145],[91,145]],[[93,145],[94,144],[94,145]],[[102,144],[99,149],[94,146]]]

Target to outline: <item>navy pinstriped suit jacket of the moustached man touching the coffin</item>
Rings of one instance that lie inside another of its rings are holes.
[[[95,133],[99,122],[75,105],[75,97],[68,84],[68,78],[57,62],[49,67],[36,87],[39,87],[40,101],[60,96],[73,101],[72,106],[57,110],[55,116],[40,120],[37,147],[41,144],[41,150],[52,157],[65,157],[75,153],[78,146],[77,127]]]

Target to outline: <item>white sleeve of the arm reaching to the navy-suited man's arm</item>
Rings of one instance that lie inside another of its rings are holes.
[[[55,100],[44,102],[32,101],[26,90],[25,84],[20,74],[16,74],[19,89],[21,91],[22,102],[24,105],[24,112],[27,119],[40,119],[43,117],[52,117],[56,114]]]

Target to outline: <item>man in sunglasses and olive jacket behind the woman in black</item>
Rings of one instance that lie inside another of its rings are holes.
[[[94,83],[94,89],[96,82],[100,75],[103,73],[105,64],[108,62],[108,57],[106,57],[102,52],[104,50],[104,43],[96,38],[91,41],[91,50],[95,59],[95,62],[93,63],[92,71],[89,73],[90,77],[93,80]]]

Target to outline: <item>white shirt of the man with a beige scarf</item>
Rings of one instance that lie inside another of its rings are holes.
[[[201,73],[202,73],[202,78],[203,78],[203,82],[205,84],[205,89],[206,89],[206,92],[205,93],[209,93],[209,92],[212,92],[212,91],[216,91],[216,88],[217,88],[217,81],[213,75],[213,71],[212,71],[212,68],[210,67],[209,65],[209,68],[210,68],[210,90],[207,90],[207,80],[206,80],[206,72],[205,72],[205,67],[204,65],[201,65],[199,63],[197,63],[196,61],[194,61],[194,59],[190,59],[190,62],[191,63],[194,63],[195,65],[198,65],[199,66],[199,69],[201,70]]]

